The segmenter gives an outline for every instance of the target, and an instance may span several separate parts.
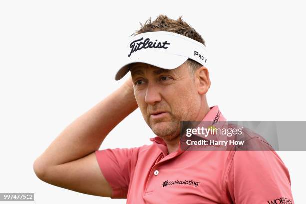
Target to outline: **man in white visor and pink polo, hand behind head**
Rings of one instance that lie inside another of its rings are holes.
[[[41,180],[127,203],[293,203],[289,172],[275,151],[180,148],[180,121],[226,120],[207,104],[205,41],[189,24],[160,15],[141,24],[127,48],[115,79],[129,71],[131,78],[36,159]],[[153,143],[98,150],[137,107],[156,134]]]

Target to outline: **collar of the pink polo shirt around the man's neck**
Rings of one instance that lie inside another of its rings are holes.
[[[222,115],[222,113],[219,110],[219,107],[217,105],[210,107],[209,112],[205,115],[205,117],[202,121],[211,121],[211,123],[212,123],[215,120],[226,121],[226,118]],[[224,123],[216,122],[216,124],[214,126],[217,127],[217,128],[220,128],[223,124]],[[180,155],[181,153],[183,153],[185,151],[185,150],[181,149],[180,141],[179,141],[179,144],[178,144],[178,150],[175,151],[175,152],[172,152],[170,154],[168,154],[167,144],[159,136],[156,136],[154,138],[150,138],[150,141],[152,141],[153,144],[156,145],[161,150],[161,152],[163,153],[164,156],[169,155],[172,158],[172,157]]]

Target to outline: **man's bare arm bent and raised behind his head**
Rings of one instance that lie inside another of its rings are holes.
[[[129,78],[120,88],[67,126],[35,160],[37,177],[73,191],[111,197],[95,157],[107,134],[138,107]]]

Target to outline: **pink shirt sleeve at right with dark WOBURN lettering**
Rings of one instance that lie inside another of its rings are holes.
[[[226,188],[235,204],[294,203],[289,171],[272,150],[236,151]]]

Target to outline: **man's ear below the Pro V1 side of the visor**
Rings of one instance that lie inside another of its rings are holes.
[[[198,93],[206,94],[210,88],[209,71],[205,66],[198,68],[195,72],[196,79],[198,81]]]

